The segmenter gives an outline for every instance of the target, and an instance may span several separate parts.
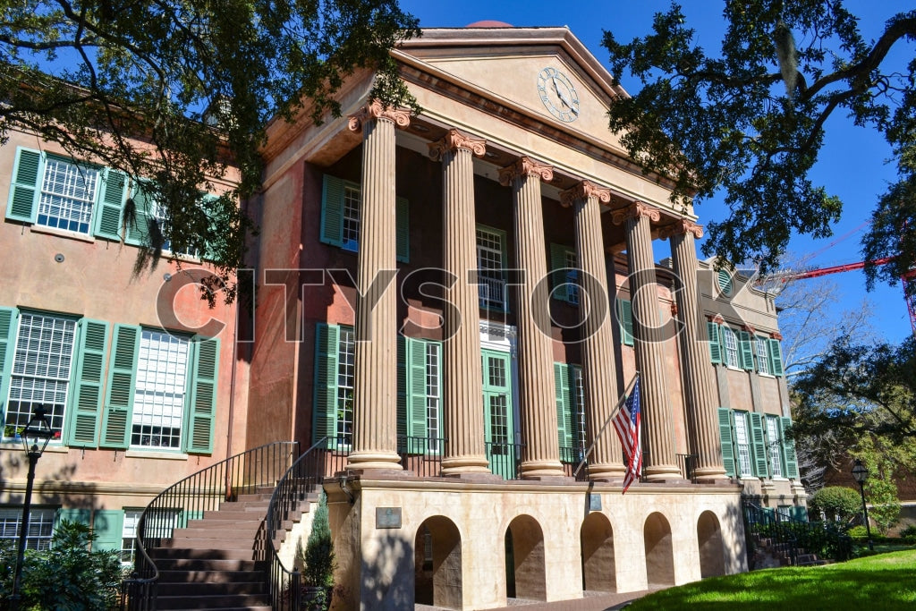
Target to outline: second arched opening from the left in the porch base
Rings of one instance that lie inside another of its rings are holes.
[[[547,600],[544,533],[530,516],[518,516],[506,531],[506,596]]]

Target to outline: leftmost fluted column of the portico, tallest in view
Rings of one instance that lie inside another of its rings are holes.
[[[350,117],[363,133],[356,274],[353,446],[348,469],[401,469],[398,458],[398,289],[395,125],[407,111],[366,104]]]

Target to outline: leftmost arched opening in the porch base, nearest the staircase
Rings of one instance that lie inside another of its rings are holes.
[[[449,518],[427,518],[414,540],[414,600],[420,605],[461,609],[461,533]]]

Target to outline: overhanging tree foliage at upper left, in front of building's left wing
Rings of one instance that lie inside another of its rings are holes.
[[[413,105],[389,49],[418,34],[397,0],[14,0],[0,7],[0,142],[10,129],[120,169],[163,207],[136,271],[172,252],[207,253],[234,298],[274,117],[340,114],[333,93],[359,69],[372,95]],[[136,144],[133,138],[140,138]],[[218,200],[213,177],[240,169]],[[133,222],[130,206],[125,209]],[[214,284],[219,285],[219,281]],[[213,296],[210,296],[213,300]]]

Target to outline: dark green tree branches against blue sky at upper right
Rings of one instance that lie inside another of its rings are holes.
[[[622,44],[605,32],[612,72],[639,93],[610,109],[610,126],[648,171],[674,180],[676,200],[725,192],[730,214],[710,223],[707,255],[775,267],[793,232],[831,234],[842,202],[808,174],[828,120],[868,125],[897,154],[900,181],[881,198],[867,267],[900,278],[916,260],[916,60],[889,67],[889,51],[916,39],[916,11],[889,15],[863,38],[842,0],[728,0],[719,53],[695,43],[681,7],[655,16],[653,33]],[[914,283],[916,285],[916,283]],[[916,290],[916,286],[912,289]]]

